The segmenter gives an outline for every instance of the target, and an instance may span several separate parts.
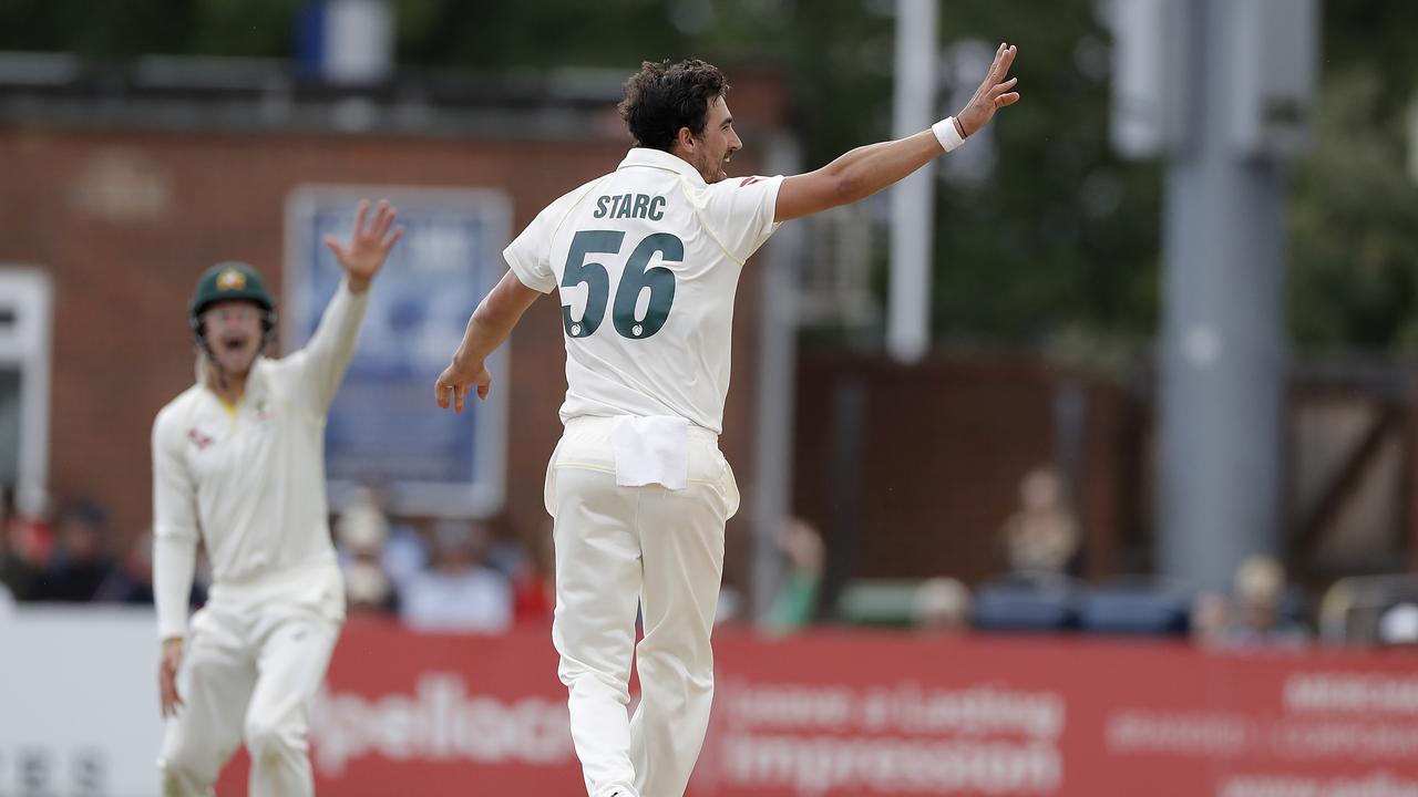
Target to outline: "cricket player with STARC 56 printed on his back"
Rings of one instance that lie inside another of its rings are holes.
[[[621,116],[620,167],[546,207],[506,248],[434,384],[440,407],[486,397],[486,357],[540,295],[560,292],[564,433],[546,478],[554,518],[552,637],[591,797],[678,797],[713,699],[709,635],[725,522],[739,505],[718,435],[733,296],[777,224],[868,197],[960,146],[1020,95],[1001,44],[957,116],[791,177],[733,177],[743,143],[723,74],[645,62]],[[637,608],[644,638],[635,644]],[[631,658],[641,701],[627,716]]]

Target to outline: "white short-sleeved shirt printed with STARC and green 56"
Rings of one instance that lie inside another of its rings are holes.
[[[635,147],[508,245],[523,285],[560,289],[562,423],[679,416],[722,431],[733,296],[744,261],[777,228],[781,184],[781,176],[708,184],[683,159]]]

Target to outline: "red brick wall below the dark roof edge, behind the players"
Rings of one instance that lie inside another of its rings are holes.
[[[284,203],[295,186],[499,189],[512,200],[515,234],[566,190],[614,169],[624,150],[610,136],[567,143],[0,128],[0,264],[37,265],[55,289],[51,489],[61,501],[99,499],[121,539],[149,522],[152,420],[193,379],[184,318],[193,284],[207,265],[241,260],[279,291]],[[736,166],[754,172],[754,155]],[[739,296],[723,448],[752,484],[752,269]],[[566,390],[560,328],[557,303],[537,302],[515,333],[510,383],[501,386],[510,391],[505,519],[520,532],[545,523],[542,474]]]

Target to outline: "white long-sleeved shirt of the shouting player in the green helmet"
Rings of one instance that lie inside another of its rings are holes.
[[[160,638],[187,630],[197,540],[211,597],[265,594],[337,573],[325,496],[325,420],[354,356],[369,291],[342,281],[311,342],[257,357],[230,413],[206,386],[153,421],[153,593]]]

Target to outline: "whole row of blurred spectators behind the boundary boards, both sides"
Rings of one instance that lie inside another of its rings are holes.
[[[550,522],[529,535],[493,523],[389,513],[380,489],[360,489],[332,518],[353,623],[398,623],[415,631],[499,634],[550,627],[554,554]],[[0,515],[0,615],[26,604],[152,606],[152,536],[119,545],[95,501]],[[520,542],[530,540],[530,545]],[[1015,512],[994,530],[998,569],[971,586],[929,579],[859,579],[824,603],[822,535],[790,518],[780,537],[783,576],[760,630],[791,634],[820,624],[953,635],[971,630],[1098,632],[1187,638],[1244,650],[1297,648],[1314,641],[1418,644],[1418,580],[1343,579],[1322,596],[1288,580],[1271,556],[1251,556],[1228,591],[1194,591],[1150,576],[1102,584],[1081,577],[1078,516],[1058,475],[1039,467],[1020,482]],[[210,573],[199,557],[191,606],[206,600]],[[1360,611],[1360,628],[1354,617]],[[1326,614],[1329,615],[1326,620]],[[749,625],[744,600],[726,586],[719,623]]]

